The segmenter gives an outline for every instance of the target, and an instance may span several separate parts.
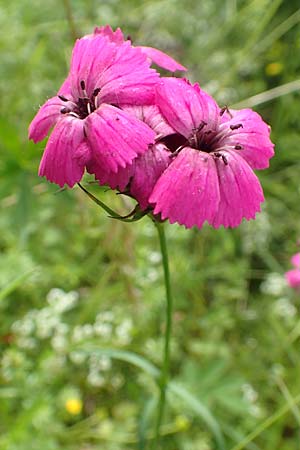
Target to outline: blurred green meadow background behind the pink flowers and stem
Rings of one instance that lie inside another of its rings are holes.
[[[221,106],[254,107],[276,143],[258,173],[266,202],[256,221],[167,226],[176,385],[163,448],[300,449],[300,305],[283,277],[300,235],[297,8],[0,0],[1,450],[143,450],[152,436],[158,390],[145,361],[161,363],[165,307],[155,229],[108,219],[78,188],[39,179],[45,143],[27,141],[67,74],[74,36],[107,23],[176,57]],[[132,207],[93,191],[120,212]]]

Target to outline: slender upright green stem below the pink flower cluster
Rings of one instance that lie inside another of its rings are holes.
[[[166,403],[166,390],[167,384],[170,376],[170,340],[171,340],[171,332],[172,332],[172,310],[173,310],[173,299],[171,292],[171,283],[170,283],[170,271],[169,271],[169,258],[168,258],[168,250],[167,250],[167,242],[166,236],[164,232],[164,224],[163,223],[155,223],[158,237],[160,250],[162,255],[162,263],[164,269],[164,281],[165,281],[165,289],[166,289],[166,331],[165,331],[165,343],[164,343],[164,361],[161,371],[161,376],[159,380],[160,386],[160,399],[158,405],[158,415],[156,422],[156,430],[155,430],[155,439],[153,442],[153,448],[155,450],[158,449],[158,442],[160,436],[160,428],[163,420],[165,403]]]

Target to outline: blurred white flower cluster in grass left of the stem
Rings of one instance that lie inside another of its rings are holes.
[[[47,340],[55,351],[55,358],[64,358],[66,361],[69,357],[73,364],[86,367],[86,379],[91,386],[101,387],[109,383],[118,388],[122,386],[124,379],[118,373],[111,374],[112,363],[108,356],[87,355],[79,350],[69,353],[69,349],[74,344],[87,341],[100,342],[100,345],[112,342],[114,346],[126,346],[132,340],[132,320],[124,318],[123,313],[104,311],[97,314],[93,323],[72,326],[66,323],[64,313],[74,308],[78,299],[79,294],[75,291],[66,293],[62,289],[51,289],[47,295],[47,306],[33,309],[13,323],[14,342],[20,350],[33,350],[39,348],[41,341]],[[10,376],[10,366],[15,364],[8,356],[2,358],[2,366],[5,366],[2,367],[2,372],[4,371],[7,377]]]

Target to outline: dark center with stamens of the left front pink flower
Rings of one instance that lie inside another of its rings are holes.
[[[84,80],[81,80],[80,87],[82,97],[79,97],[77,102],[71,102],[64,95],[58,96],[63,102],[69,102],[68,106],[61,108],[60,112],[62,114],[70,114],[78,119],[85,119],[89,114],[98,108],[97,96],[100,92],[100,88],[94,89],[91,97],[89,97],[85,89]]]

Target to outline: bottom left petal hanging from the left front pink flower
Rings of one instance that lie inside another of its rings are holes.
[[[81,180],[84,166],[90,159],[89,146],[84,142],[84,121],[65,116],[57,122],[44,151],[39,176],[52,183],[73,187]]]

